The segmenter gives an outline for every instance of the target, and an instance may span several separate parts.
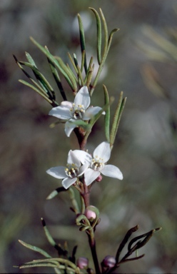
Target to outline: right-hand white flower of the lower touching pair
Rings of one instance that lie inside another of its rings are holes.
[[[123,175],[119,168],[113,165],[106,165],[106,162],[111,156],[111,148],[108,142],[103,142],[96,147],[93,151],[93,157],[86,151],[73,151],[81,163],[89,164],[89,168],[84,173],[86,186],[89,186],[93,181],[100,176],[100,173],[104,176],[123,179]]]

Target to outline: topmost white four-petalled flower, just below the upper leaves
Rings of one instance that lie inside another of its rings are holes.
[[[66,120],[65,133],[66,136],[69,137],[74,128],[77,127],[77,125],[74,124],[74,121],[89,121],[93,116],[101,111],[101,107],[99,106],[89,107],[90,103],[91,98],[88,88],[83,86],[76,94],[74,103],[63,101],[61,102],[61,106],[52,108],[51,111],[49,111],[49,115]]]

